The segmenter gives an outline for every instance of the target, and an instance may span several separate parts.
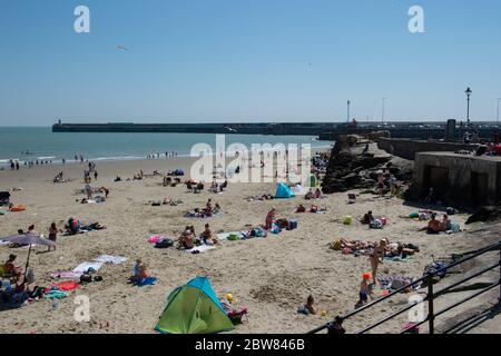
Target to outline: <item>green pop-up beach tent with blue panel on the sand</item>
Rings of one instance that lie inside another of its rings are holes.
[[[214,334],[233,329],[208,277],[196,277],[174,289],[155,326],[163,334]]]

